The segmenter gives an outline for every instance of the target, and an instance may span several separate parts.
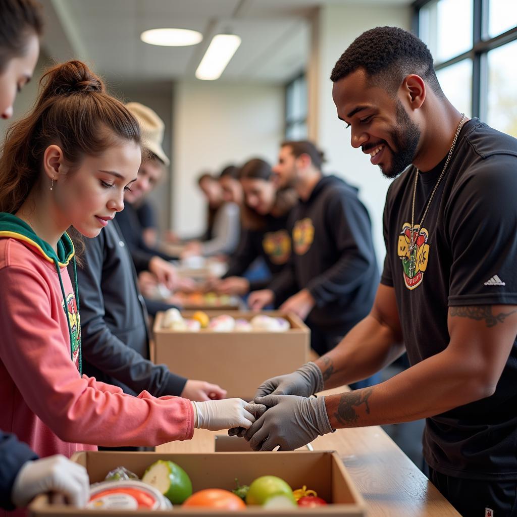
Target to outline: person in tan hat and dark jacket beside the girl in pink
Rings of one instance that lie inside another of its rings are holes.
[[[128,108],[133,114],[147,115],[147,118],[137,119],[146,135],[144,146],[153,153],[144,159],[138,179],[132,184],[135,193],[145,191],[150,183],[146,174],[143,179],[140,177],[143,170],[154,171],[157,159],[161,163],[169,160],[160,145],[163,126],[153,133],[149,129],[156,129],[158,125],[145,125],[145,120],[161,122],[158,115],[141,104],[135,109],[135,103],[131,103]],[[149,161],[153,163],[150,166]],[[83,261],[77,270],[81,292],[83,371],[98,381],[119,386],[129,394],[146,390],[155,397],[176,395],[199,401],[225,398],[226,391],[219,386],[187,380],[170,372],[163,364],[156,365],[149,360],[146,305],[138,287],[129,246],[118,226],[119,215],[127,209],[128,205],[99,236],[86,239]],[[149,267],[149,261],[142,261],[141,265]]]

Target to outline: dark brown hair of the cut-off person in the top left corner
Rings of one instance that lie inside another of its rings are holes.
[[[34,0],[2,0],[0,2],[0,73],[10,59],[22,56],[27,38],[41,36],[41,5]]]

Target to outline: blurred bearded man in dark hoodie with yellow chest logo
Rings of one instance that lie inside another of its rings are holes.
[[[280,188],[292,187],[300,197],[290,219],[293,253],[268,288],[248,300],[260,310],[286,298],[280,310],[307,322],[320,355],[369,313],[379,279],[368,211],[355,187],[323,175],[323,160],[312,142],[282,143],[273,172]]]

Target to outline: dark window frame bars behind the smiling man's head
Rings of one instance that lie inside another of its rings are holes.
[[[420,9],[435,0],[415,0],[413,2],[413,31],[420,35]],[[494,37],[488,36],[489,1],[473,2],[473,41],[472,47],[444,62],[435,63],[436,71],[462,61],[472,59],[472,116],[486,120],[488,102],[488,53],[491,50],[517,40],[517,26]]]

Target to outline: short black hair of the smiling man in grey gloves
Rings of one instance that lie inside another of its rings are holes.
[[[404,29],[375,27],[363,32],[338,59],[330,80],[335,83],[361,68],[375,85],[383,86],[393,96],[406,75],[414,73],[443,97],[427,45]]]

